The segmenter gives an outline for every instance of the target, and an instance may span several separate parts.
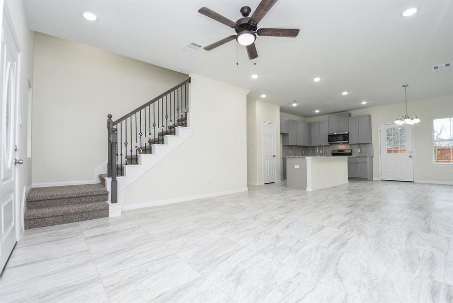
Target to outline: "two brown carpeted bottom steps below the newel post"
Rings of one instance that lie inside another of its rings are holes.
[[[33,188],[25,229],[108,217],[108,191],[100,184]]]

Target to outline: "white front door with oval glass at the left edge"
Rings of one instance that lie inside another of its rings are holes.
[[[0,62],[0,271],[17,241],[15,145],[17,144],[18,47],[13,30],[3,16]]]

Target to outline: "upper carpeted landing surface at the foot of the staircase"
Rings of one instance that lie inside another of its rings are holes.
[[[64,199],[102,194],[108,194],[108,191],[101,184],[36,187],[27,195],[27,201]]]

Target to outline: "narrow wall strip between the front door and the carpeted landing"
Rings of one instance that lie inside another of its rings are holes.
[[[6,1],[5,6],[11,16],[14,30],[19,42],[20,54],[20,87],[19,87],[19,117],[22,118],[22,126],[19,127],[19,153],[18,159],[23,159],[24,164],[19,166],[18,195],[21,210],[19,212],[22,224],[24,212],[24,191],[31,188],[32,159],[27,158],[27,129],[28,129],[28,83],[33,83],[33,34],[28,30],[22,1]],[[5,22],[5,20],[3,20]],[[23,226],[20,226],[21,230]]]

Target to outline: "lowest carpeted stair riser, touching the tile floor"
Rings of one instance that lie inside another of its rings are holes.
[[[80,222],[80,221],[105,218],[105,217],[108,217],[108,209],[100,210],[100,211],[92,211],[92,212],[88,212],[88,213],[64,215],[64,216],[58,216],[58,217],[25,220],[25,229],[67,224],[67,223]]]

